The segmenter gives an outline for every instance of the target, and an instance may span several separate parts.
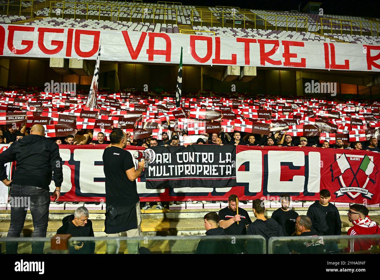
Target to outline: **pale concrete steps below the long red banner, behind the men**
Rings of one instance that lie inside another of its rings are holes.
[[[141,210],[141,231],[142,236],[167,236],[167,235],[202,235],[205,229],[203,226],[203,216],[206,213],[215,211],[218,212],[220,208],[217,209],[184,209],[184,210],[156,210],[155,206],[150,210]],[[255,220],[252,208],[247,210],[252,221]],[[272,213],[277,208],[268,208],[266,210],[267,218],[272,216]],[[299,207],[293,208],[298,214],[306,215],[307,208]],[[347,210],[348,207],[338,207],[341,219],[342,219],[342,234],[347,233],[347,230],[351,227],[351,223],[348,221]],[[95,236],[102,237],[105,236],[104,233],[104,219],[105,210],[89,210],[90,219],[93,224],[93,230]],[[47,236],[54,236],[57,229],[62,225],[62,219],[73,214],[74,210],[50,210],[49,214],[49,226],[47,229]],[[380,223],[380,208],[373,207],[370,208],[369,213],[371,219]],[[6,210],[0,210],[0,237],[6,237],[9,229],[10,213]],[[33,232],[32,216],[30,211],[28,211],[25,226],[23,230],[23,235],[25,237],[31,236]]]

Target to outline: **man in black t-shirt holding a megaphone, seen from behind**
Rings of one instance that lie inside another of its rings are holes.
[[[107,237],[118,237],[120,232],[127,232],[128,237],[141,236],[140,199],[137,193],[136,179],[144,169],[144,160],[135,161],[124,148],[127,146],[127,135],[116,128],[109,136],[111,147],[103,152],[103,166],[106,177],[106,219]],[[128,253],[137,254],[138,242],[127,242]],[[116,242],[107,242],[107,252],[117,253]]]

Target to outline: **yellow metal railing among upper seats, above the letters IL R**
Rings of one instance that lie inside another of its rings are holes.
[[[372,32],[372,24],[376,24],[376,34],[378,35],[378,25],[379,25],[379,22],[373,22],[373,21],[353,21],[353,20],[350,20],[350,19],[332,19],[332,18],[320,18],[320,21],[321,21],[321,34],[323,34],[323,26],[330,26],[330,30],[331,30],[331,34],[334,33],[333,32],[333,28],[332,26],[340,26],[340,29],[336,29],[336,27],[334,27],[334,30],[340,30],[340,34],[343,34],[343,28],[346,27],[349,30],[346,30],[346,31],[350,31],[351,30],[351,35],[353,34],[353,31],[358,31],[358,30],[353,30],[353,27],[358,27],[360,29],[360,35],[363,35],[363,32],[371,32],[371,36],[373,36],[373,32]],[[323,22],[323,21],[329,21],[329,22]],[[348,22],[348,23],[346,23]],[[363,22],[363,24],[362,24]],[[369,26],[368,26],[369,24]],[[326,28],[325,28],[326,29]],[[369,29],[370,31],[366,31],[364,29]]]

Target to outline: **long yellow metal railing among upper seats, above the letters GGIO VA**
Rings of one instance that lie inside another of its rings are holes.
[[[63,4],[62,4],[63,3]],[[74,8],[69,6],[67,7],[68,4],[74,4]],[[86,5],[86,8],[82,8],[79,5]],[[92,8],[91,6],[96,6],[96,8]],[[126,9],[124,9],[126,8]],[[137,9],[140,9],[137,11]],[[111,12],[109,17],[112,18],[114,17],[114,13],[117,12],[117,20],[120,20],[120,12],[123,13],[129,13],[128,18],[130,18],[130,21],[132,21],[133,14],[141,14],[141,21],[144,22],[146,19],[150,19],[150,15],[153,15],[153,22],[155,22],[155,16],[160,16],[163,15],[163,21],[166,23],[166,21],[170,21],[170,19],[166,19],[166,15],[172,14],[173,13],[168,13],[167,11],[175,11],[175,19],[172,19],[171,21],[175,21],[177,24],[177,15],[178,15],[178,10],[175,8],[156,8],[156,7],[148,7],[148,6],[128,6],[128,5],[109,5],[109,4],[94,4],[94,3],[80,3],[80,2],[61,2],[61,1],[51,1],[50,2],[50,8],[49,8],[49,17],[51,17],[51,14],[54,13],[59,9],[60,15],[62,14],[62,18],[64,18],[65,14],[65,9],[73,9],[74,14],[73,15],[74,19],[78,15],[77,10],[86,10],[86,14],[80,14],[81,16],[86,16],[86,19],[89,17],[89,11],[97,11],[98,14],[98,20],[100,20],[101,12]],[[62,10],[60,10],[62,9]],[[96,16],[96,15],[90,15],[90,16]],[[104,16],[104,15],[103,15]],[[122,16],[121,18],[127,18],[125,16]],[[140,18],[138,18],[140,19]]]

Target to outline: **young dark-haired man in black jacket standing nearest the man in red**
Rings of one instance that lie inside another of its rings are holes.
[[[310,205],[307,216],[312,221],[311,231],[321,235],[341,235],[342,221],[340,220],[338,208],[329,202],[331,194],[329,190],[323,189],[319,193],[320,200]],[[326,243],[327,251],[336,251],[338,246],[335,242]]]

